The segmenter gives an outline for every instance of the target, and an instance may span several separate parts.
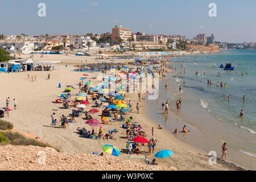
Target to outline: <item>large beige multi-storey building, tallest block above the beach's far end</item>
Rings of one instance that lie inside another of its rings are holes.
[[[131,29],[122,28],[121,25],[116,25],[112,28],[112,43],[117,43],[117,37],[120,37],[124,42],[127,42],[127,40],[131,38]]]

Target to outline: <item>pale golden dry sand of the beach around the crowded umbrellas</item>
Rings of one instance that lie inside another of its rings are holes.
[[[23,55],[27,58],[28,55]],[[73,65],[85,63],[97,63],[94,57],[79,57],[79,56],[64,56],[64,55],[44,55],[41,59],[40,55],[34,55],[35,61],[38,60],[58,60],[61,61],[61,69],[52,72],[19,72],[19,73],[0,73],[0,82],[3,88],[0,91],[0,107],[5,106],[5,100],[10,97],[10,108],[13,109],[13,99],[17,101],[17,110],[10,111],[9,118],[3,118],[6,121],[13,123],[15,129],[32,133],[38,136],[40,139],[52,144],[60,152],[67,152],[68,154],[92,154],[93,151],[101,153],[102,146],[104,144],[113,144],[119,148],[121,155],[118,159],[136,161],[138,163],[144,163],[143,159],[129,158],[126,149],[126,133],[125,129],[122,129],[123,122],[109,121],[109,125],[105,125],[103,133],[108,132],[110,129],[117,129],[118,134],[115,134],[117,140],[96,140],[87,139],[77,134],[77,127],[85,127],[88,130],[92,130],[92,126],[85,124],[83,117],[76,118],[77,123],[69,123],[67,129],[51,127],[50,115],[55,112],[56,118],[59,118],[62,114],[68,116],[72,113],[71,109],[63,109],[62,104],[56,104],[56,94],[64,91],[65,85],[73,85],[76,89],[72,90],[72,94],[79,92],[80,77],[83,72],[73,72],[75,68]],[[99,60],[100,61],[100,60]],[[122,60],[123,61],[123,60]],[[121,60],[109,61],[121,62]],[[123,61],[125,63],[125,61]],[[68,65],[65,67],[65,65]],[[47,80],[47,75],[50,73],[51,78]],[[36,76],[36,81],[32,82],[27,79],[27,74],[30,76]],[[92,76],[97,77],[95,73],[87,73],[89,78]],[[86,79],[88,81],[90,79]],[[91,80],[93,85],[97,85],[101,80]],[[58,88],[59,83],[62,87]],[[154,127],[154,137],[157,140],[155,152],[168,149],[174,151],[174,155],[167,159],[156,159],[160,166],[174,166],[178,170],[241,170],[242,168],[236,167],[236,165],[225,162],[225,160],[217,159],[216,165],[210,165],[208,160],[209,156],[196,148],[189,146],[188,144],[180,142],[169,131],[157,129],[158,125],[152,121],[146,115],[146,108],[142,102],[140,103],[140,114],[135,113],[135,105],[138,102],[137,94],[126,94],[126,97],[130,98],[133,102],[133,111],[130,114],[124,115],[125,121],[130,116],[133,116],[134,121],[139,122],[143,131],[147,134],[147,139],[152,138],[151,129]],[[89,98],[89,97],[88,97]],[[143,98],[143,97],[142,97]],[[89,102],[91,102],[89,98]],[[126,100],[127,101],[127,100]],[[127,101],[129,102],[129,100]],[[89,105],[86,110],[92,108]],[[101,110],[101,108],[99,109]],[[92,114],[94,119],[100,120],[101,113]],[[68,117],[69,118],[69,117]],[[112,117],[113,118],[113,117]],[[119,118],[119,117],[118,117]],[[96,132],[98,133],[98,128]],[[142,152],[141,155],[147,155],[148,147],[139,147]],[[134,154],[135,155],[135,154]],[[154,159],[154,155],[147,155],[149,160]]]

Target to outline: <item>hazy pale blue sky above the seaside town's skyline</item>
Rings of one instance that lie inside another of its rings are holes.
[[[46,17],[38,4],[46,4]],[[216,3],[217,17],[208,15]],[[111,32],[115,24],[146,34],[215,34],[222,42],[256,42],[255,0],[0,0],[0,34]]]

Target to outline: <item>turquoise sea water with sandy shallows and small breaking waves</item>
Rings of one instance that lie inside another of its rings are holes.
[[[190,126],[197,134],[190,134],[190,137],[187,135],[185,139],[184,136],[177,138],[201,150],[220,152],[221,144],[227,142],[229,156],[233,161],[255,169],[256,50],[225,50],[223,54],[176,56],[170,60],[173,61],[176,72],[169,74],[160,82],[160,97],[157,101],[146,100],[147,109],[150,109],[149,105],[151,105],[150,110],[152,110],[152,104],[154,104],[156,105],[155,111],[157,111],[157,114],[153,115],[151,111],[148,115],[159,124],[166,125],[170,131],[174,131],[175,127],[181,127],[187,122],[187,126]],[[228,62],[236,65],[233,71],[210,68],[213,64],[218,66],[223,64],[225,67]],[[185,73],[184,68],[186,68]],[[208,79],[212,81],[211,85],[207,84]],[[166,81],[171,80],[174,81],[176,88],[163,89],[161,87]],[[221,82],[223,87],[220,86]],[[179,84],[182,85],[183,93],[177,90]],[[229,95],[230,101],[228,101]],[[246,96],[245,101],[243,101],[243,96]],[[163,100],[169,99],[171,104],[175,104],[179,98],[183,99],[181,112],[174,113],[176,118],[184,123],[174,122],[174,118],[167,118],[158,110]],[[240,117],[241,110],[244,111],[242,118]],[[204,140],[200,139],[202,135],[205,137]]]

